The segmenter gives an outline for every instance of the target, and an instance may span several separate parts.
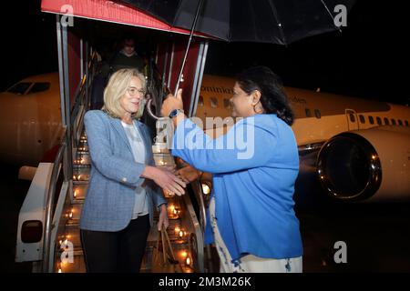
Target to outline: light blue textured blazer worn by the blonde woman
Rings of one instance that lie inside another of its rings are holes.
[[[134,121],[143,136],[146,163],[138,164],[129,145],[121,120],[100,110],[90,110],[84,117],[91,173],[83,206],[80,228],[94,231],[119,231],[128,226],[134,209],[135,188],[145,179],[146,165],[154,166],[149,129]],[[149,220],[154,206],[166,203],[162,190],[148,180]]]

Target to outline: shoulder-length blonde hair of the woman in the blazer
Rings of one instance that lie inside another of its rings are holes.
[[[108,85],[104,89],[104,106],[101,108],[108,115],[115,118],[122,118],[123,110],[119,104],[119,99],[126,94],[131,78],[138,77],[141,81],[142,89],[146,89],[145,77],[137,69],[120,69],[109,78]],[[139,103],[138,111],[131,115],[139,118],[144,112],[145,99]]]

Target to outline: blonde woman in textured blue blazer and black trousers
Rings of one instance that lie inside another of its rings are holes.
[[[168,227],[160,188],[177,195],[185,183],[154,166],[149,130],[137,118],[145,100],[145,78],[135,69],[113,74],[103,110],[85,115],[91,173],[80,220],[87,272],[138,272],[154,206]]]

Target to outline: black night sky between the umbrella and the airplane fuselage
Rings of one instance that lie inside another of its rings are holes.
[[[342,33],[316,35],[287,47],[219,44],[223,54],[211,45],[207,69],[226,67],[232,74],[241,63],[268,65],[284,85],[405,104],[410,95],[405,90],[409,25],[404,11],[399,1],[358,0]]]

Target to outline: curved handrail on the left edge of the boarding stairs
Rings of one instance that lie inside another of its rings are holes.
[[[58,149],[56,159],[54,160],[53,170],[51,172],[50,182],[48,183],[47,199],[46,199],[46,216],[43,236],[43,273],[48,272],[48,265],[50,261],[50,238],[52,228],[52,207],[54,205],[54,196],[56,191],[56,183],[59,172],[60,163],[63,159],[67,144],[62,143]]]

